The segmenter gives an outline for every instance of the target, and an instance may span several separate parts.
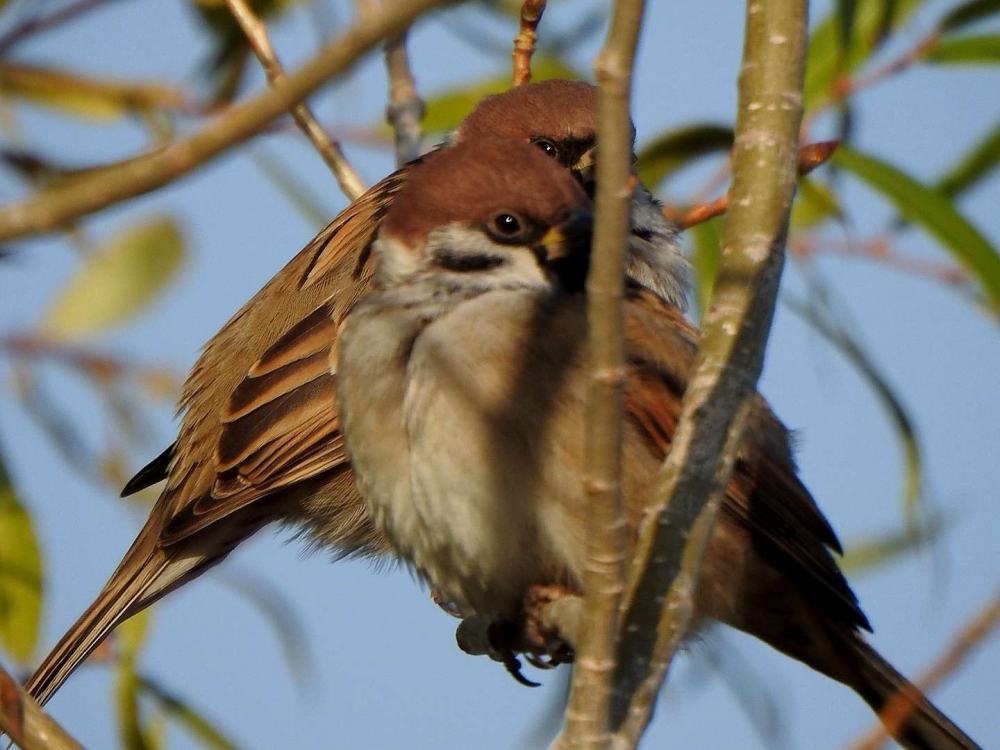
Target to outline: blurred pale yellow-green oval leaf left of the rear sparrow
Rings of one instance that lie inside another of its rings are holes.
[[[183,257],[184,239],[173,219],[133,224],[86,258],[49,307],[42,331],[70,338],[125,322],[166,288]]]

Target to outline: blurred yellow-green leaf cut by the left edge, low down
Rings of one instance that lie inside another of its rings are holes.
[[[38,645],[42,558],[31,517],[0,456],[0,644],[27,662]]]

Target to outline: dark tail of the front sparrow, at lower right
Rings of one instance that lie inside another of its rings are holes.
[[[979,745],[860,637],[855,640],[855,651],[857,677],[851,687],[900,745],[908,750],[979,750]]]

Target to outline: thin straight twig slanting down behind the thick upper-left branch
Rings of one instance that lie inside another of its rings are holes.
[[[236,22],[246,35],[250,47],[253,49],[260,65],[264,69],[268,83],[277,86],[282,81],[287,80],[281,61],[274,51],[271,38],[267,33],[267,26],[250,9],[246,0],[226,0],[229,12],[233,14]],[[340,144],[333,140],[323,126],[319,124],[313,115],[309,105],[304,101],[292,107],[292,119],[299,126],[299,130],[305,133],[306,138],[316,147],[319,155],[326,162],[326,165],[333,172],[337,179],[337,184],[348,198],[352,201],[359,198],[365,192],[365,185],[354,171],[344,152],[340,149]]]

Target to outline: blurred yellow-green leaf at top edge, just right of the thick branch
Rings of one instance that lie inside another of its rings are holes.
[[[809,39],[806,58],[805,111],[829,103],[838,79],[860,69],[886,35],[904,24],[924,0],[857,0],[850,43],[841,48],[844,24],[840,9],[820,21]]]

